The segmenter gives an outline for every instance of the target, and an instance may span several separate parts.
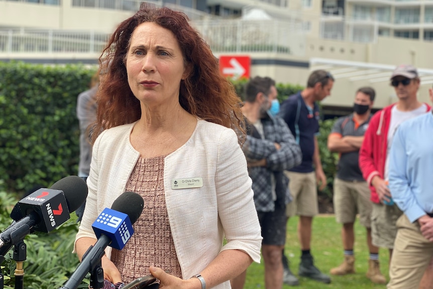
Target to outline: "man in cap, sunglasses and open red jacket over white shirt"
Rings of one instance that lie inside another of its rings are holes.
[[[397,233],[396,221],[402,212],[393,203],[388,188],[388,153],[398,126],[411,118],[430,111],[430,106],[420,103],[416,94],[419,77],[412,65],[399,65],[391,76],[398,101],[378,111],[371,119],[359,153],[359,166],[370,185],[373,209],[371,213],[372,243],[389,249],[391,259]],[[376,263],[378,266],[378,263]]]

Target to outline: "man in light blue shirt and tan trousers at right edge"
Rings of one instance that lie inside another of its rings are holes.
[[[397,220],[387,288],[418,288],[433,256],[431,112],[408,120],[397,129],[389,155],[389,187],[392,199],[404,214]]]

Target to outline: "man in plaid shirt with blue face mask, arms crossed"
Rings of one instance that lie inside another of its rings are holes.
[[[281,289],[281,250],[286,240],[285,208],[290,201],[288,179],[283,171],[301,162],[301,150],[287,125],[268,110],[277,98],[275,81],[256,76],[245,87],[242,113],[247,121],[247,138],[242,147],[253,181],[254,203],[262,228],[262,255],[266,289]],[[231,280],[241,289],[246,271]]]

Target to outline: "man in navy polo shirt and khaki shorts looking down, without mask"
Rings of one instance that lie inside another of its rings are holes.
[[[302,151],[302,163],[284,172],[290,180],[290,193],[293,197],[293,202],[287,205],[286,215],[299,216],[298,237],[302,250],[299,275],[323,283],[330,283],[331,278],[314,266],[310,253],[312,219],[318,214],[316,185],[319,182],[319,189],[322,190],[327,184],[316,138],[319,131],[319,109],[316,102],[331,94],[333,84],[334,77],[331,73],[324,70],[313,71],[308,77],[307,87],[285,100],[280,111],[280,116],[287,123]],[[299,282],[290,272],[284,252],[283,263],[284,282],[297,285]]]

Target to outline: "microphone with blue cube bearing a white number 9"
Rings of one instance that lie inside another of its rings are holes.
[[[111,209],[105,208],[92,224],[98,240],[87,249],[77,269],[60,289],[76,289],[88,272],[100,266],[107,246],[122,250],[134,234],[132,224],[140,217],[143,206],[144,201],[140,195],[126,191],[114,201]]]

